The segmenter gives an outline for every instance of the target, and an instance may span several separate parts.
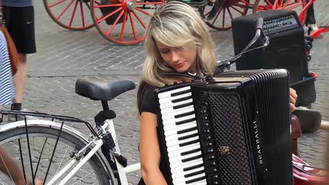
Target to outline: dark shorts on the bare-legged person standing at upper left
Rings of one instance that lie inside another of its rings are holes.
[[[36,53],[34,8],[3,6],[3,20],[20,54]]]

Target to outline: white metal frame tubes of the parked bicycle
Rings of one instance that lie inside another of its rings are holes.
[[[115,129],[114,129],[114,123],[112,119],[107,119],[105,121],[105,123],[101,126],[102,130],[105,132],[110,132],[112,135],[112,138],[114,140],[115,143],[115,147],[114,147],[114,152],[121,155],[120,152],[120,148],[119,148],[119,143],[117,140],[117,134],[115,133]],[[93,147],[93,149],[91,149],[91,151],[88,152],[88,154],[80,159],[77,160],[77,158],[73,158],[73,160],[71,160],[68,164],[66,164],[66,166],[61,169],[48,183],[47,185],[52,185],[54,184],[58,179],[60,179],[60,177],[66,173],[66,171],[69,171],[69,169],[71,169],[71,167],[73,167],[73,165],[75,165],[76,162],[78,162],[76,164],[76,166],[70,171],[70,173],[68,175],[66,175],[66,177],[64,177],[64,179],[62,181],[60,181],[59,185],[64,185],[66,184],[67,181],[69,181],[71,179],[71,177],[73,177],[73,175],[75,175],[75,173],[95,154],[97,153],[97,151],[99,151],[99,149],[101,149],[101,146],[103,145],[103,140],[101,138],[94,138],[90,143],[88,143],[88,145],[86,145],[83,149],[81,149],[80,151],[78,151],[77,153],[83,153],[84,150],[86,150],[90,145],[95,144],[95,146]],[[140,163],[136,163],[136,164],[131,164],[128,165],[127,167],[123,167],[116,158],[114,158],[115,160],[115,164],[117,165],[117,170],[119,173],[119,177],[120,177],[120,182],[123,185],[127,185],[127,174],[128,173],[132,173],[134,171],[140,171],[141,170],[141,164]]]

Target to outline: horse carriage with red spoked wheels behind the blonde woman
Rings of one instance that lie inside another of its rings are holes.
[[[166,0],[168,1],[168,0]],[[73,31],[96,27],[111,42],[134,45],[144,40],[151,14],[165,0],[43,0],[49,16]],[[266,10],[295,10],[305,23],[306,8],[315,0],[181,0],[197,9],[206,24],[219,31],[231,28],[231,20]],[[254,2],[251,2],[254,1]],[[91,14],[91,16],[90,16]]]

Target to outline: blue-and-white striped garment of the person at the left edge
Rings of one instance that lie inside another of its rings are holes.
[[[0,105],[11,104],[15,95],[7,42],[3,33],[0,32]]]

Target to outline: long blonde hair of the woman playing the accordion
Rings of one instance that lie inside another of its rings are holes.
[[[161,58],[156,41],[168,47],[197,47],[197,65],[212,74],[215,71],[215,45],[208,28],[196,10],[179,1],[169,1],[154,12],[145,34],[146,60],[138,89],[138,101],[143,94],[145,84],[164,86],[164,73],[172,72]],[[197,72],[197,71],[195,71]],[[139,106],[138,102],[138,106]]]

